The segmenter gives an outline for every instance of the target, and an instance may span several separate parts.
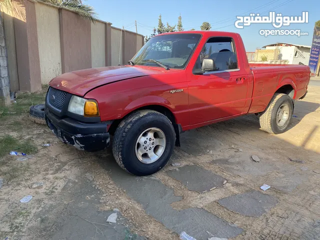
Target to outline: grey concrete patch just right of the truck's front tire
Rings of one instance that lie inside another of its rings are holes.
[[[176,169],[167,170],[166,173],[180,181],[191,191],[209,191],[213,187],[223,186],[224,177],[206,170],[198,165],[185,165]]]

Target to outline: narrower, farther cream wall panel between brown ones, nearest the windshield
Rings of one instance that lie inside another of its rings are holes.
[[[111,65],[122,64],[122,33],[121,29],[111,27]]]

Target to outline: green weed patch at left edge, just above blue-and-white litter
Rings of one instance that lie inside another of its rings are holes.
[[[30,139],[20,141],[10,135],[0,137],[0,157],[9,154],[10,151],[20,151],[26,154],[32,154],[37,151],[37,148]]]

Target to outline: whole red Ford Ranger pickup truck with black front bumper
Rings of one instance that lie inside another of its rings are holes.
[[[287,129],[307,92],[304,65],[249,65],[239,34],[183,31],[152,37],[127,65],[53,78],[45,120],[64,143],[97,151],[148,175],[169,160],[182,131],[236,116],[259,115],[262,130]]]

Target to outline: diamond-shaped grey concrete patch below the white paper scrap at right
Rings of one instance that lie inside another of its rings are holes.
[[[250,191],[218,200],[227,209],[244,216],[261,216],[277,203],[277,199],[260,191]]]

